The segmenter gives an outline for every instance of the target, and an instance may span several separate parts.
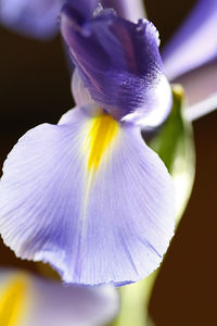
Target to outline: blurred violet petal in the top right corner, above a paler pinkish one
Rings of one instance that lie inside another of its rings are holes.
[[[192,13],[163,49],[167,77],[180,75],[217,58],[217,1],[199,0]]]

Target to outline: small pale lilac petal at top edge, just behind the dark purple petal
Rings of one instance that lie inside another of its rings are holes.
[[[135,23],[145,17],[142,0],[101,0],[101,3],[103,8],[114,8],[120,17]]]

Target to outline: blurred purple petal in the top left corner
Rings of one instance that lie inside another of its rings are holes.
[[[64,0],[1,0],[0,23],[13,30],[50,38],[58,32],[58,15]]]

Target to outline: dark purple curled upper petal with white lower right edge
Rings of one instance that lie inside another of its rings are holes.
[[[167,116],[171,93],[152,23],[133,24],[111,10],[80,23],[66,4],[61,32],[91,98],[115,120],[154,126]]]

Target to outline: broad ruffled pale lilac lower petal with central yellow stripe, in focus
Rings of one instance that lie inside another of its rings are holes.
[[[91,115],[89,115],[89,112]],[[139,128],[98,108],[28,131],[0,183],[0,231],[66,283],[123,285],[155,269],[174,233],[174,187]]]

